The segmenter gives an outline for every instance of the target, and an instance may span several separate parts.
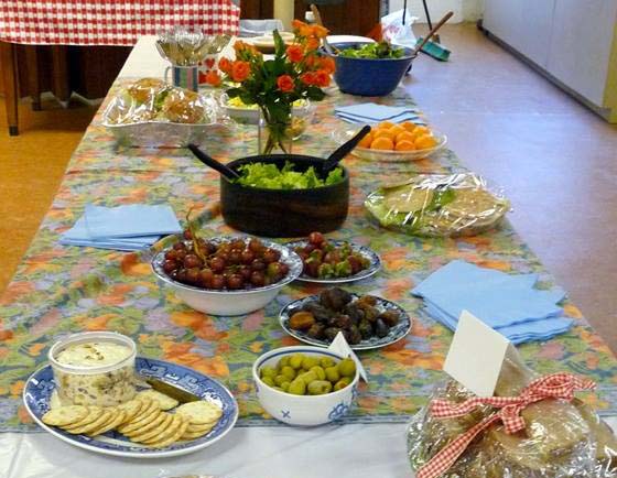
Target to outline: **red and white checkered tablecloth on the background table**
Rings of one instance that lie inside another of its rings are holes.
[[[0,41],[55,45],[132,45],[174,25],[238,33],[231,0],[0,0]]]

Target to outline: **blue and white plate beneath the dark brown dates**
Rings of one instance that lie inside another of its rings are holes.
[[[351,293],[351,296],[354,297],[354,301],[360,297],[359,294],[355,294],[355,293]],[[376,297],[376,298],[377,298],[377,304],[375,306],[378,309],[382,312],[397,311],[399,313],[399,323],[393,327],[390,327],[390,329],[388,330],[388,335],[386,337],[374,336],[367,339],[362,339],[359,344],[354,344],[354,345],[349,344],[349,347],[351,347],[353,350],[372,350],[376,348],[386,347],[387,345],[399,341],[401,338],[407,336],[411,330],[411,317],[404,311],[404,308],[402,308],[399,304],[396,304],[386,298],[382,297]],[[321,339],[308,337],[304,332],[294,330],[289,325],[290,317],[295,312],[302,309],[304,304],[306,304],[307,302],[318,302],[318,300],[320,300],[318,295],[308,295],[307,297],[303,297],[303,298],[299,298],[297,301],[290,302],[281,309],[281,313],[279,314],[279,323],[281,324],[281,327],[283,327],[283,329],[289,335],[295,337],[296,339],[305,344],[311,344],[317,347],[328,347],[331,343],[327,339],[321,340]]]

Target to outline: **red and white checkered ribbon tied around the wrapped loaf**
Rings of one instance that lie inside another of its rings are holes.
[[[593,381],[571,373],[553,373],[533,380],[522,390],[519,396],[488,396],[485,399],[475,396],[463,403],[433,400],[431,402],[431,413],[439,419],[463,416],[473,412],[478,405],[490,405],[500,410],[447,444],[418,470],[416,478],[441,476],[458,459],[469,443],[495,422],[501,421],[506,433],[509,434],[524,430],[524,420],[520,416],[520,412],[527,405],[545,399],[571,401],[575,391],[593,390],[595,387],[596,384]]]

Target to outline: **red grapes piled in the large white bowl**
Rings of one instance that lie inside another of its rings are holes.
[[[201,238],[193,240],[190,231],[184,232],[184,238],[165,252],[162,264],[171,279],[183,284],[234,291],[274,284],[289,273],[281,253],[257,238],[218,245]]]

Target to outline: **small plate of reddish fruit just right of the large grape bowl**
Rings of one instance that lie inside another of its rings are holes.
[[[306,239],[285,245],[302,259],[299,280],[321,284],[340,284],[374,275],[381,267],[379,256],[370,248],[354,242],[328,239],[311,232]]]

